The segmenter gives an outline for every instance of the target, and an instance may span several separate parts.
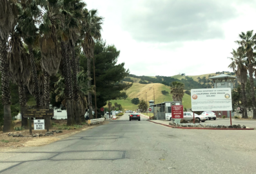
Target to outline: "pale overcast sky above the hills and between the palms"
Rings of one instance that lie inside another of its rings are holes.
[[[256,32],[256,0],[84,0],[104,17],[103,39],[135,75],[230,71],[234,41]]]

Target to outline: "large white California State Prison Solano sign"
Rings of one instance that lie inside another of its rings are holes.
[[[191,90],[192,111],[231,111],[231,88]]]

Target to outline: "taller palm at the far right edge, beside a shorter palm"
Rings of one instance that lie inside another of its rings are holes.
[[[255,92],[254,92],[254,82],[253,82],[253,63],[255,62],[253,49],[255,49],[256,45],[256,34],[253,35],[253,30],[246,32],[242,32],[239,34],[240,41],[235,41],[240,45],[239,50],[243,52],[248,59],[248,70],[249,70],[249,79],[251,85],[251,101],[253,104],[253,119],[256,119],[256,109],[255,109]]]

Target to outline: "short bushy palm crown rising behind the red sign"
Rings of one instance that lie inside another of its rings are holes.
[[[172,82],[171,84],[171,92],[173,101],[181,101],[184,95],[184,84],[182,82]]]

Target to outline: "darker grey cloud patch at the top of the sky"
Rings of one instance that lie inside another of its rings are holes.
[[[237,17],[233,1],[144,0],[123,13],[122,28],[136,41],[171,43],[223,39],[222,24]]]

